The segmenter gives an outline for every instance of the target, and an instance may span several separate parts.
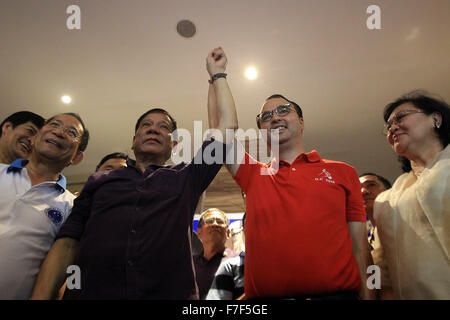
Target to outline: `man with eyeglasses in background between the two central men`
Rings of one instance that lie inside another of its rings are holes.
[[[220,209],[210,208],[200,215],[197,235],[202,241],[203,252],[193,257],[200,300],[206,298],[222,259],[234,255],[225,251],[225,242],[230,235],[228,225],[228,217]]]

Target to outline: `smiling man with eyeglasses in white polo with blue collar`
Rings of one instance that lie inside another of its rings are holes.
[[[88,140],[79,115],[59,114],[36,134],[29,160],[0,164],[0,300],[30,297],[75,198],[61,172],[83,160]]]

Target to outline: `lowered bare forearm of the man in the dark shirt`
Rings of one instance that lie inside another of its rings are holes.
[[[67,267],[74,263],[78,250],[78,240],[61,238],[55,241],[41,265],[30,299],[56,299],[66,279]]]

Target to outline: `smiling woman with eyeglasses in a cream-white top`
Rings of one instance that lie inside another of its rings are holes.
[[[450,108],[424,91],[384,110],[405,171],[374,205],[382,298],[450,299]]]

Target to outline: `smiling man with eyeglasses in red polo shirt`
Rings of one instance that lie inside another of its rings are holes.
[[[208,101],[214,123],[211,88]],[[306,152],[302,110],[281,95],[265,101],[257,124],[278,133],[267,135],[269,148],[278,143],[278,157],[268,165],[257,162],[236,142],[237,163],[227,164],[247,195],[246,297],[370,298],[356,170]]]

